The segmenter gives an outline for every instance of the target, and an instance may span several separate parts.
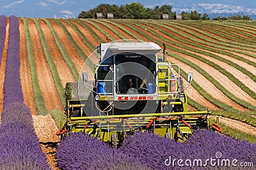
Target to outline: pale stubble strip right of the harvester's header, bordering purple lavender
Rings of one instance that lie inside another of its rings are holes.
[[[214,119],[216,119],[216,117],[219,117],[221,124],[227,125],[228,127],[231,127],[232,129],[236,129],[238,131],[256,136],[256,127],[253,127],[252,125],[248,125],[244,122],[240,122],[238,120],[234,120],[234,119],[227,118],[227,117],[220,117],[220,116],[211,116],[211,117]]]

